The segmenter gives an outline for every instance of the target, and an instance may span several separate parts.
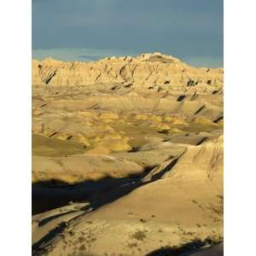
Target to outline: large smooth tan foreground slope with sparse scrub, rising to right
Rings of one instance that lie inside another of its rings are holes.
[[[92,204],[90,212],[80,212],[61,231],[61,239],[56,235],[49,241],[49,255],[76,254],[82,249],[95,255],[148,255],[163,245],[178,247],[195,238],[220,241],[221,143],[219,138],[188,146],[176,158],[154,168],[144,180],[137,179],[133,184],[137,189],[131,193],[102,207]],[[111,193],[118,195],[121,190],[115,188]]]

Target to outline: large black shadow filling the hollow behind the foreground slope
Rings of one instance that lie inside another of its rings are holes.
[[[180,157],[180,156],[179,156]],[[32,184],[32,214],[46,212],[57,207],[67,206],[72,202],[90,203],[94,210],[109,202],[115,201],[147,183],[154,182],[166,172],[170,172],[176,165],[178,158],[171,159],[163,170],[154,174],[151,180],[145,182],[143,177],[148,175],[154,167],[144,170],[143,174],[133,177],[113,178],[105,177],[99,181],[87,181],[70,185],[57,180]]]

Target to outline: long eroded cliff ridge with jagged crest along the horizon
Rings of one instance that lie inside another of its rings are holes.
[[[223,86],[223,69],[190,67],[177,58],[160,53],[135,58],[109,57],[95,62],[47,58],[32,61],[32,84],[57,87],[123,84],[150,89],[161,86],[172,90],[218,90]]]

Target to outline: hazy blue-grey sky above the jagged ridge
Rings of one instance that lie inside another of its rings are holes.
[[[161,52],[223,67],[223,0],[32,0],[32,57]]]

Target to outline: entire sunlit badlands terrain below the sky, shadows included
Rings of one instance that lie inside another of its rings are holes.
[[[223,255],[223,117],[221,68],[33,60],[33,255]]]

